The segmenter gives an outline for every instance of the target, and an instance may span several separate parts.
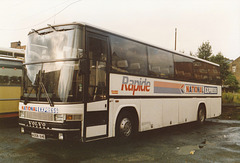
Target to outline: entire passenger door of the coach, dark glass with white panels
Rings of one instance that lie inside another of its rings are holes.
[[[87,99],[85,103],[85,140],[108,136],[108,75],[109,53],[107,37],[87,33],[86,53],[89,58]]]

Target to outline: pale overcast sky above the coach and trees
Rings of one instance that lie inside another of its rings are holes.
[[[240,0],[0,0],[0,47],[27,44],[31,29],[86,22],[162,48],[240,56]]]

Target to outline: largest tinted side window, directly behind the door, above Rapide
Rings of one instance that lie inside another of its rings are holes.
[[[111,36],[112,71],[147,75],[146,46],[140,43]]]

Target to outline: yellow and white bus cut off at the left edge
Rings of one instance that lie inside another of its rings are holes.
[[[24,57],[21,50],[4,49],[0,48],[0,119],[18,117]],[[20,58],[14,58],[14,55]]]

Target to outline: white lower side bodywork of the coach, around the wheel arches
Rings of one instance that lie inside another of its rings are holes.
[[[115,136],[117,116],[124,107],[136,109],[141,132],[196,121],[201,103],[206,106],[207,118],[221,114],[221,98],[111,99],[109,137]]]

